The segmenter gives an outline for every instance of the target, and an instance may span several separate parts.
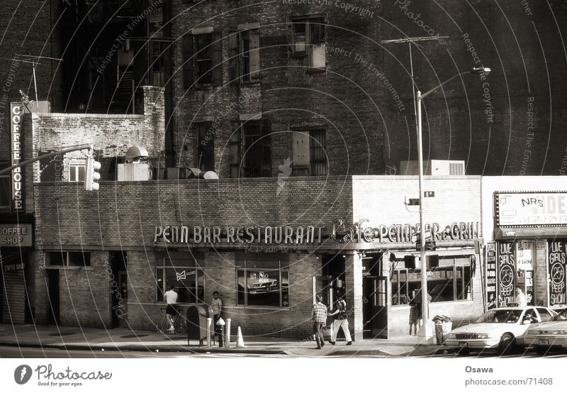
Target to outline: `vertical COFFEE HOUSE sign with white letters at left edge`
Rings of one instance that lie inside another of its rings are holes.
[[[20,103],[10,103],[10,148],[12,165],[17,165],[22,160],[23,154],[23,134],[21,130],[23,109]],[[26,206],[23,199],[23,167],[12,170],[12,210],[23,211]]]

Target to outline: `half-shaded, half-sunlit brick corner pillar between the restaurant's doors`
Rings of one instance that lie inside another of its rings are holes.
[[[344,260],[347,290],[347,309],[350,312],[349,328],[354,341],[362,340],[362,258],[358,253],[348,255]]]

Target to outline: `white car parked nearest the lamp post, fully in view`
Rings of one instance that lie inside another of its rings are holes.
[[[470,325],[456,328],[447,336],[447,345],[467,352],[471,348],[496,349],[510,353],[524,345],[524,336],[532,323],[552,319],[555,311],[546,307],[503,307],[485,312]]]

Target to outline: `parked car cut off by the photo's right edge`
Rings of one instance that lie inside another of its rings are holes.
[[[526,345],[543,355],[551,348],[567,347],[567,309],[563,309],[551,321],[539,323],[527,330]]]

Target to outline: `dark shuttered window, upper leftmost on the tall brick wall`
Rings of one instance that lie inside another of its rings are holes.
[[[182,38],[183,86],[223,84],[222,33],[186,34]]]

